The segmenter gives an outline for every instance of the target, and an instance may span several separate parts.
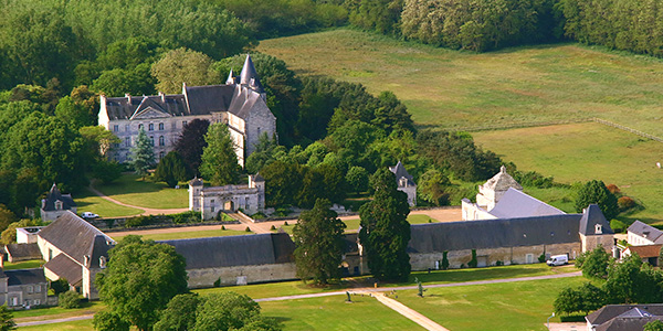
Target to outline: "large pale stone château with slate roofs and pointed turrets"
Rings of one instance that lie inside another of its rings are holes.
[[[228,125],[242,167],[262,135],[275,137],[276,117],[267,107],[251,56],[246,56],[240,76],[231,73],[224,85],[182,84],[182,93],[175,95],[101,96],[98,122],[119,138],[109,156],[119,162],[130,159],[130,149],[140,130],[151,140],[155,159],[161,159],[175,148],[183,127],[193,119]]]

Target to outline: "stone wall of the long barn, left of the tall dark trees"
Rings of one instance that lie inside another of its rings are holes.
[[[296,279],[294,263],[260,266],[238,266],[187,270],[189,288],[213,287],[220,279],[221,285],[230,286],[239,282],[252,284]],[[245,278],[243,278],[245,277]],[[243,278],[243,279],[238,279]]]

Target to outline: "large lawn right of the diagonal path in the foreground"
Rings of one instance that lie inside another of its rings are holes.
[[[397,300],[450,330],[546,330],[557,293],[585,281],[572,277],[428,288],[424,298],[406,290],[398,291]]]

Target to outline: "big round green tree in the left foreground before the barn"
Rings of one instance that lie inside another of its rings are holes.
[[[108,252],[96,285],[110,311],[150,330],[168,301],[188,291],[186,261],[170,245],[127,236]]]

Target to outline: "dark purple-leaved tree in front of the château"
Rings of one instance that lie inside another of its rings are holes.
[[[175,151],[185,159],[185,162],[189,166],[189,170],[197,175],[200,174],[200,158],[202,157],[202,149],[207,147],[204,136],[209,126],[210,122],[207,119],[196,118],[187,122],[175,143]]]

